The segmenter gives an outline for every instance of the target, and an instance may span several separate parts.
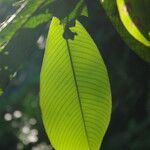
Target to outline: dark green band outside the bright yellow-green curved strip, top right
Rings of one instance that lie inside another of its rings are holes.
[[[121,37],[128,46],[141,58],[150,63],[150,48],[137,41],[124,27],[117,8],[116,0],[100,0],[102,6],[106,10],[107,15],[111,19],[113,25],[120,33]],[[143,2],[143,1],[142,1]],[[136,4],[135,4],[136,5]],[[145,14],[147,15],[147,14]],[[148,24],[147,24],[148,25]]]

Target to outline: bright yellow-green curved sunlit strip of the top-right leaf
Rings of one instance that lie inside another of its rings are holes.
[[[139,12],[139,10],[140,10],[139,8],[142,7],[142,5],[148,4],[148,1],[147,1],[147,3],[146,3],[146,1],[144,0],[141,4],[140,3],[137,4],[136,1],[134,1],[134,3],[133,3],[133,1],[132,1],[132,3],[131,2],[127,3],[127,1],[125,1],[125,0],[117,0],[116,2],[117,2],[120,19],[121,19],[123,25],[125,26],[125,28],[128,30],[128,32],[136,40],[138,40],[145,46],[150,47],[150,41],[148,40],[148,38],[146,38],[143,35],[143,33],[140,31],[139,27],[137,26],[138,24],[143,24],[143,22],[140,23],[140,22],[138,22],[138,20],[135,20],[136,18],[134,18],[134,19],[131,18],[131,14],[129,12],[130,9],[131,9],[130,11],[132,12],[134,4],[138,5],[138,7],[135,8],[135,12]],[[138,18],[144,18],[144,16],[147,16],[146,15],[147,13],[144,9],[145,9],[145,7],[143,8],[142,12],[140,11],[138,13]],[[132,12],[132,14],[133,14],[133,12]],[[134,15],[134,16],[136,16],[136,15]],[[150,20],[150,18],[146,18],[146,20]],[[150,23],[148,23],[148,21],[144,22],[144,24],[146,27],[150,26]],[[148,36],[148,32],[147,32],[147,36]]]

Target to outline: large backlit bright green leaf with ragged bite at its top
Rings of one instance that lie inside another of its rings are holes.
[[[53,18],[40,78],[40,107],[56,150],[99,150],[111,114],[111,91],[103,59],[76,21],[74,40]]]

